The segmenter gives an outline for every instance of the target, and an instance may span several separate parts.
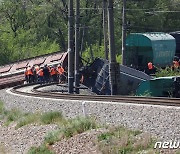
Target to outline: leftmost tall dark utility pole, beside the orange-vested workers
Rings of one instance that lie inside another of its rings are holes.
[[[68,5],[68,93],[71,94],[74,91],[73,0]]]

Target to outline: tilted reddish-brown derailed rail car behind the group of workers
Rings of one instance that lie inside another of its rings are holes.
[[[57,65],[61,63],[67,67],[67,52],[55,52],[34,58],[24,59],[5,66],[0,66],[0,89],[23,84],[25,81],[24,69],[30,65]]]

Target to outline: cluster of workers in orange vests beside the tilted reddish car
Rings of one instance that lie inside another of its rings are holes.
[[[65,73],[66,71],[61,64],[57,67],[47,65],[44,65],[44,67],[38,65],[28,66],[24,71],[26,83],[64,83],[66,80]]]

